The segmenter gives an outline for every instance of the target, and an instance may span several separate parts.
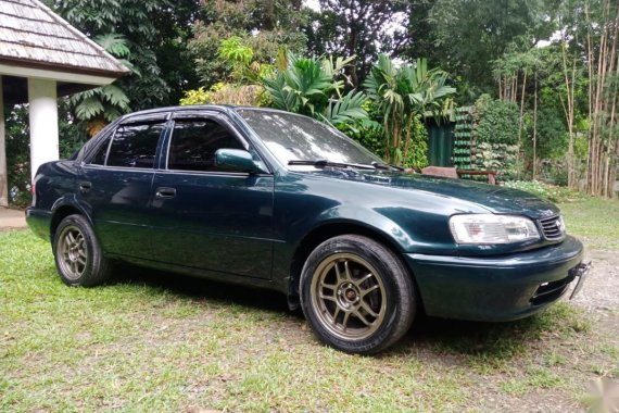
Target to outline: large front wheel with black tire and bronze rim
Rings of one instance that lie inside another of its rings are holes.
[[[325,343],[348,353],[372,354],[410,328],[413,279],[389,248],[359,235],[320,243],[301,273],[301,306]]]

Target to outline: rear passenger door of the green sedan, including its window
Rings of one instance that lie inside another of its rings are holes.
[[[166,114],[118,125],[84,163],[78,197],[90,210],[94,231],[108,253],[149,259],[149,215],[157,148]]]

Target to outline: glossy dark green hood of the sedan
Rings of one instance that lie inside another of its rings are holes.
[[[559,213],[553,203],[529,192],[465,179],[352,170],[325,170],[318,174],[464,200],[498,214],[527,215],[538,220]]]

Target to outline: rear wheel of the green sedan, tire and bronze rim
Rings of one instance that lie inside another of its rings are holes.
[[[81,215],[68,215],[60,222],[52,251],[58,273],[67,286],[93,287],[110,277],[111,264],[103,256],[90,224]]]

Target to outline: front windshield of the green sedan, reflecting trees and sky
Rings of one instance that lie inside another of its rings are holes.
[[[365,165],[382,162],[344,134],[311,117],[255,109],[237,112],[287,167],[314,170],[314,166],[288,165],[290,161],[326,160]]]

